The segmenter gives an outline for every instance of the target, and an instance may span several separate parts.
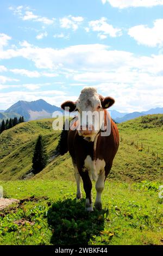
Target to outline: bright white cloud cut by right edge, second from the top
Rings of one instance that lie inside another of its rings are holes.
[[[154,26],[149,28],[146,25],[131,27],[128,34],[139,44],[155,47],[163,44],[163,19],[155,20]]]

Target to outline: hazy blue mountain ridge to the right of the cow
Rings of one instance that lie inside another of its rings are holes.
[[[122,123],[124,121],[128,121],[137,117],[142,117],[142,115],[147,115],[147,114],[163,114],[163,108],[157,107],[157,108],[151,108],[148,111],[143,111],[143,112],[133,112],[133,113],[128,113],[124,115],[123,117],[120,118],[112,118],[117,122],[117,123]]]

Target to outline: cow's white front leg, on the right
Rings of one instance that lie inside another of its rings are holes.
[[[105,181],[105,171],[101,170],[98,176],[98,180],[96,182],[96,201],[95,201],[95,208],[98,210],[102,209],[102,200],[101,195],[104,189],[104,181]]]

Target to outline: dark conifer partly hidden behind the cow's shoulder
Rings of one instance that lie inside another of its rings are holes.
[[[59,155],[65,155],[68,152],[68,130],[65,130],[65,124],[63,126],[63,130],[60,133],[58,145],[57,145],[57,153]]]

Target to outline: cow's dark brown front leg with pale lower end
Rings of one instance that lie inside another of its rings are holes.
[[[90,180],[88,172],[82,172],[82,180],[83,180],[83,187],[86,194],[86,201],[85,201],[85,210],[86,211],[93,211],[92,206],[92,197],[91,197],[91,190],[92,190],[92,182]]]

